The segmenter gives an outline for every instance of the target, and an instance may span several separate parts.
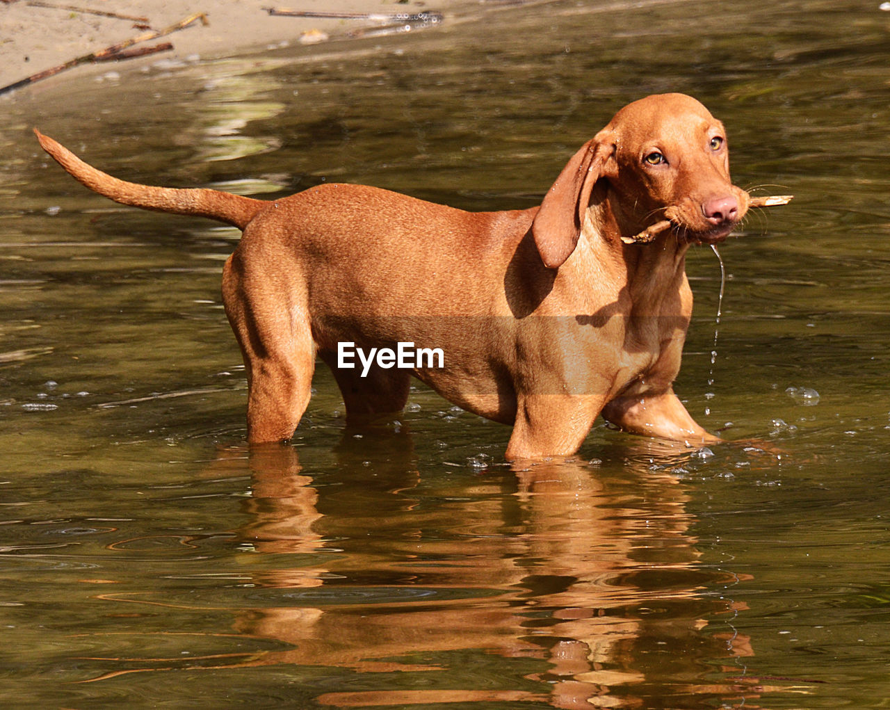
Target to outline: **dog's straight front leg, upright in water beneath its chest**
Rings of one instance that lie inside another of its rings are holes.
[[[545,456],[570,456],[584,443],[603,397],[532,394],[517,399],[513,436],[507,444],[511,461]]]

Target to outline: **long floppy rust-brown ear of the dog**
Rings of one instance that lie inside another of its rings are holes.
[[[569,258],[578,244],[590,193],[602,177],[603,164],[613,146],[600,136],[587,141],[562,168],[541,208],[531,223],[538,254],[548,269],[556,269]]]

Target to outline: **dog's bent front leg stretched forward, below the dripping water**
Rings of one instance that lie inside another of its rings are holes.
[[[720,441],[696,423],[673,391],[612,399],[603,417],[626,432],[684,441],[689,446]]]

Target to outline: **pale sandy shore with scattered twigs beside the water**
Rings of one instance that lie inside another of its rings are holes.
[[[196,20],[189,27],[133,49],[162,42],[173,50],[152,54],[134,62],[159,58],[184,59],[221,57],[259,49],[342,39],[362,30],[396,24],[384,19],[295,18],[273,16],[268,7],[323,12],[394,14],[400,12],[441,12],[446,18],[462,10],[479,7],[484,0],[436,0],[435,4],[411,0],[0,0],[0,87],[11,85],[67,61],[100,52],[112,44],[125,42],[150,32],[163,30],[182,20],[206,13],[206,24]],[[112,12],[128,19],[85,12]],[[144,18],[142,21],[134,18]],[[104,66],[108,66],[104,64]],[[81,69],[69,69],[78,71]],[[68,76],[68,75],[64,75]]]

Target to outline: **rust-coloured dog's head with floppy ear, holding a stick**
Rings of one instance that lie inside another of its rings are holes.
[[[532,224],[546,266],[569,258],[595,189],[616,237],[667,219],[678,239],[716,243],[748,210],[748,193],[730,179],[723,124],[681,93],[628,104],[571,157]]]

